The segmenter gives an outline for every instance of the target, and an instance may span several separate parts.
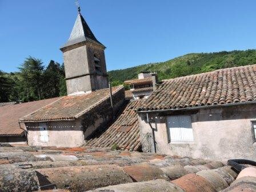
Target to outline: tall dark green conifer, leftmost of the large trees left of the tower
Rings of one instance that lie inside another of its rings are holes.
[[[22,77],[22,86],[26,91],[26,98],[29,101],[41,100],[43,85],[43,62],[41,59],[28,57],[19,67]]]

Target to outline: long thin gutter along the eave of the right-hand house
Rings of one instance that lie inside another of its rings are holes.
[[[155,113],[155,112],[159,113],[159,112],[168,112],[168,111],[187,111],[187,110],[211,109],[211,108],[217,108],[217,107],[229,107],[229,106],[238,106],[238,105],[247,105],[247,104],[256,104],[256,101],[227,103],[227,104],[222,104],[222,105],[204,105],[204,106],[176,108],[176,109],[158,109],[158,110],[137,111],[137,113]]]

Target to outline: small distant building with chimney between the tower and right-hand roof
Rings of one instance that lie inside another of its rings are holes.
[[[130,90],[125,93],[126,99],[148,98],[156,89],[157,73],[141,71],[138,74],[138,79],[127,80],[125,84],[130,86]]]

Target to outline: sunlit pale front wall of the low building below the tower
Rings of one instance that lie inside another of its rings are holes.
[[[49,142],[40,139],[39,123],[26,123],[28,144],[31,146],[76,147],[84,138],[81,121],[47,122]]]

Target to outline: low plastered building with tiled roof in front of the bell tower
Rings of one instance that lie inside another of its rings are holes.
[[[123,104],[125,91],[113,87],[113,109],[109,89],[67,95],[20,119],[25,123],[31,146],[75,147],[97,129],[103,129]]]

